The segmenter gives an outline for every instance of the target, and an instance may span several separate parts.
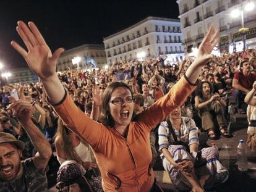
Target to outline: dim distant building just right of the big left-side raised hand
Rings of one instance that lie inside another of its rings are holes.
[[[83,44],[82,46],[68,49],[58,59],[58,70],[63,71],[77,68],[72,63],[74,57],[80,57],[78,63],[82,69],[102,68],[106,64],[106,55],[103,44]]]

